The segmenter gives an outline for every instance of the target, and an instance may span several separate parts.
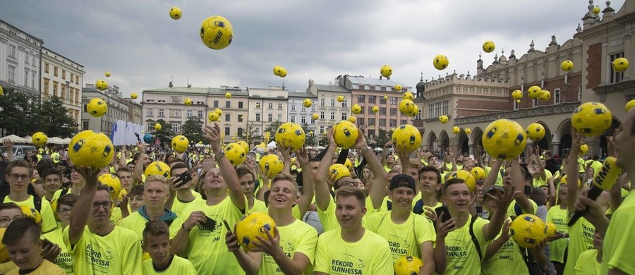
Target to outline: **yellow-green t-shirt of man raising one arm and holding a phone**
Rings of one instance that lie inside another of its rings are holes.
[[[223,220],[230,227],[234,227],[243,216],[243,211],[231,202],[229,196],[216,205],[207,205],[207,202],[191,204],[183,210],[183,214],[177,218],[176,224],[183,224],[192,212],[202,211],[205,216],[216,221],[213,231],[202,226],[195,226],[189,234],[189,242],[186,255],[198,274],[244,274],[238,265],[234,253],[227,250],[225,245],[226,228]]]

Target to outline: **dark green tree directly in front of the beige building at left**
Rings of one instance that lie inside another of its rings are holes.
[[[75,121],[71,116],[68,116],[68,109],[56,96],[49,97],[42,102],[38,118],[42,119],[44,133],[49,137],[71,138],[76,130]]]

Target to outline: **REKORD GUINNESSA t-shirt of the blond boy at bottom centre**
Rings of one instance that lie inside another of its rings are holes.
[[[317,238],[314,271],[333,275],[393,274],[391,259],[385,238],[365,230],[360,240],[349,243],[337,228]]]

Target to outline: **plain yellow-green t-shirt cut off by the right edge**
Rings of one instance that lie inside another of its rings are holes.
[[[604,237],[602,274],[609,269],[621,269],[635,274],[635,192],[629,193],[611,217]]]

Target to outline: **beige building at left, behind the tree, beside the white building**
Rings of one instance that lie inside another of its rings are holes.
[[[76,126],[82,120],[84,73],[84,66],[81,64],[42,47],[42,99],[59,97]]]

